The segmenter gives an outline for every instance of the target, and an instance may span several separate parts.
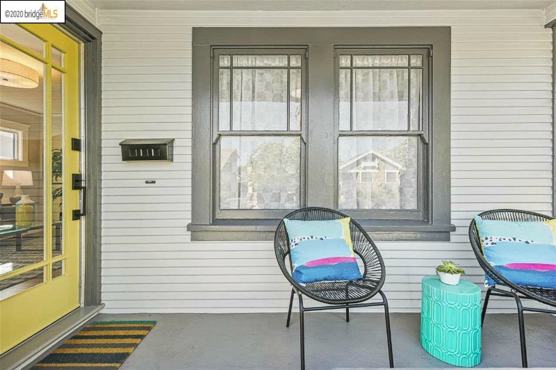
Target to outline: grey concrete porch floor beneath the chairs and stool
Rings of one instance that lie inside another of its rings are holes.
[[[388,367],[384,315],[341,312],[305,315],[306,369]],[[298,369],[297,313],[99,314],[95,321],[156,320],[120,370]],[[395,367],[451,367],[419,343],[420,315],[391,314]],[[529,367],[556,367],[556,317],[526,314]],[[489,314],[479,367],[521,367],[516,314]]]

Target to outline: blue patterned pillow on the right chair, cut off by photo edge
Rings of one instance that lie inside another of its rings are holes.
[[[556,289],[556,219],[494,221],[475,217],[484,258],[516,285]],[[485,286],[496,282],[485,275]]]

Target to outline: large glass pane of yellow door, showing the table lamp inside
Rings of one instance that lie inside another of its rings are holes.
[[[0,78],[0,126],[19,127],[17,167],[0,160],[0,269],[14,271],[44,260],[44,65],[1,42],[0,57],[10,62]]]

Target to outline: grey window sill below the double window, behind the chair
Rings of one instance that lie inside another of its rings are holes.
[[[275,219],[216,220],[210,225],[188,224],[192,241],[271,241],[279,224]],[[373,241],[449,242],[452,224],[423,221],[361,221]]]

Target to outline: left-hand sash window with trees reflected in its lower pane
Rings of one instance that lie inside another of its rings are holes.
[[[213,52],[215,218],[275,219],[302,207],[306,50]]]

